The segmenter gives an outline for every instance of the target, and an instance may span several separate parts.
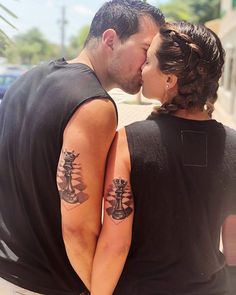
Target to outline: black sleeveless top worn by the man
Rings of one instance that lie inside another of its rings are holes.
[[[0,276],[23,288],[86,290],[66,255],[56,171],[68,121],[96,97],[113,102],[88,66],[60,59],[23,75],[0,105]]]

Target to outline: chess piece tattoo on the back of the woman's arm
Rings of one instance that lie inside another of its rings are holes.
[[[115,178],[110,185],[105,201],[109,204],[107,214],[115,223],[127,218],[132,212],[133,196],[128,182],[122,178]]]

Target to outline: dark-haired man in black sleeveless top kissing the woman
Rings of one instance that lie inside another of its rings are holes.
[[[139,91],[146,51],[163,22],[142,1],[107,2],[77,58],[35,67],[4,97],[1,294],[19,293],[17,286],[45,295],[90,289],[104,168],[117,124],[107,91]]]

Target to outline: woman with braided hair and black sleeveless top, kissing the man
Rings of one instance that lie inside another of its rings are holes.
[[[203,25],[168,24],[154,38],[143,94],[162,105],[113,142],[92,295],[229,294],[219,241],[224,225],[234,264],[236,132],[211,118],[223,63]]]

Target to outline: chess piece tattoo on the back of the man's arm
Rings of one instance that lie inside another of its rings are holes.
[[[82,204],[88,199],[84,193],[86,185],[81,175],[81,165],[75,163],[79,154],[63,151],[64,158],[57,170],[59,194],[62,200],[70,204]]]

